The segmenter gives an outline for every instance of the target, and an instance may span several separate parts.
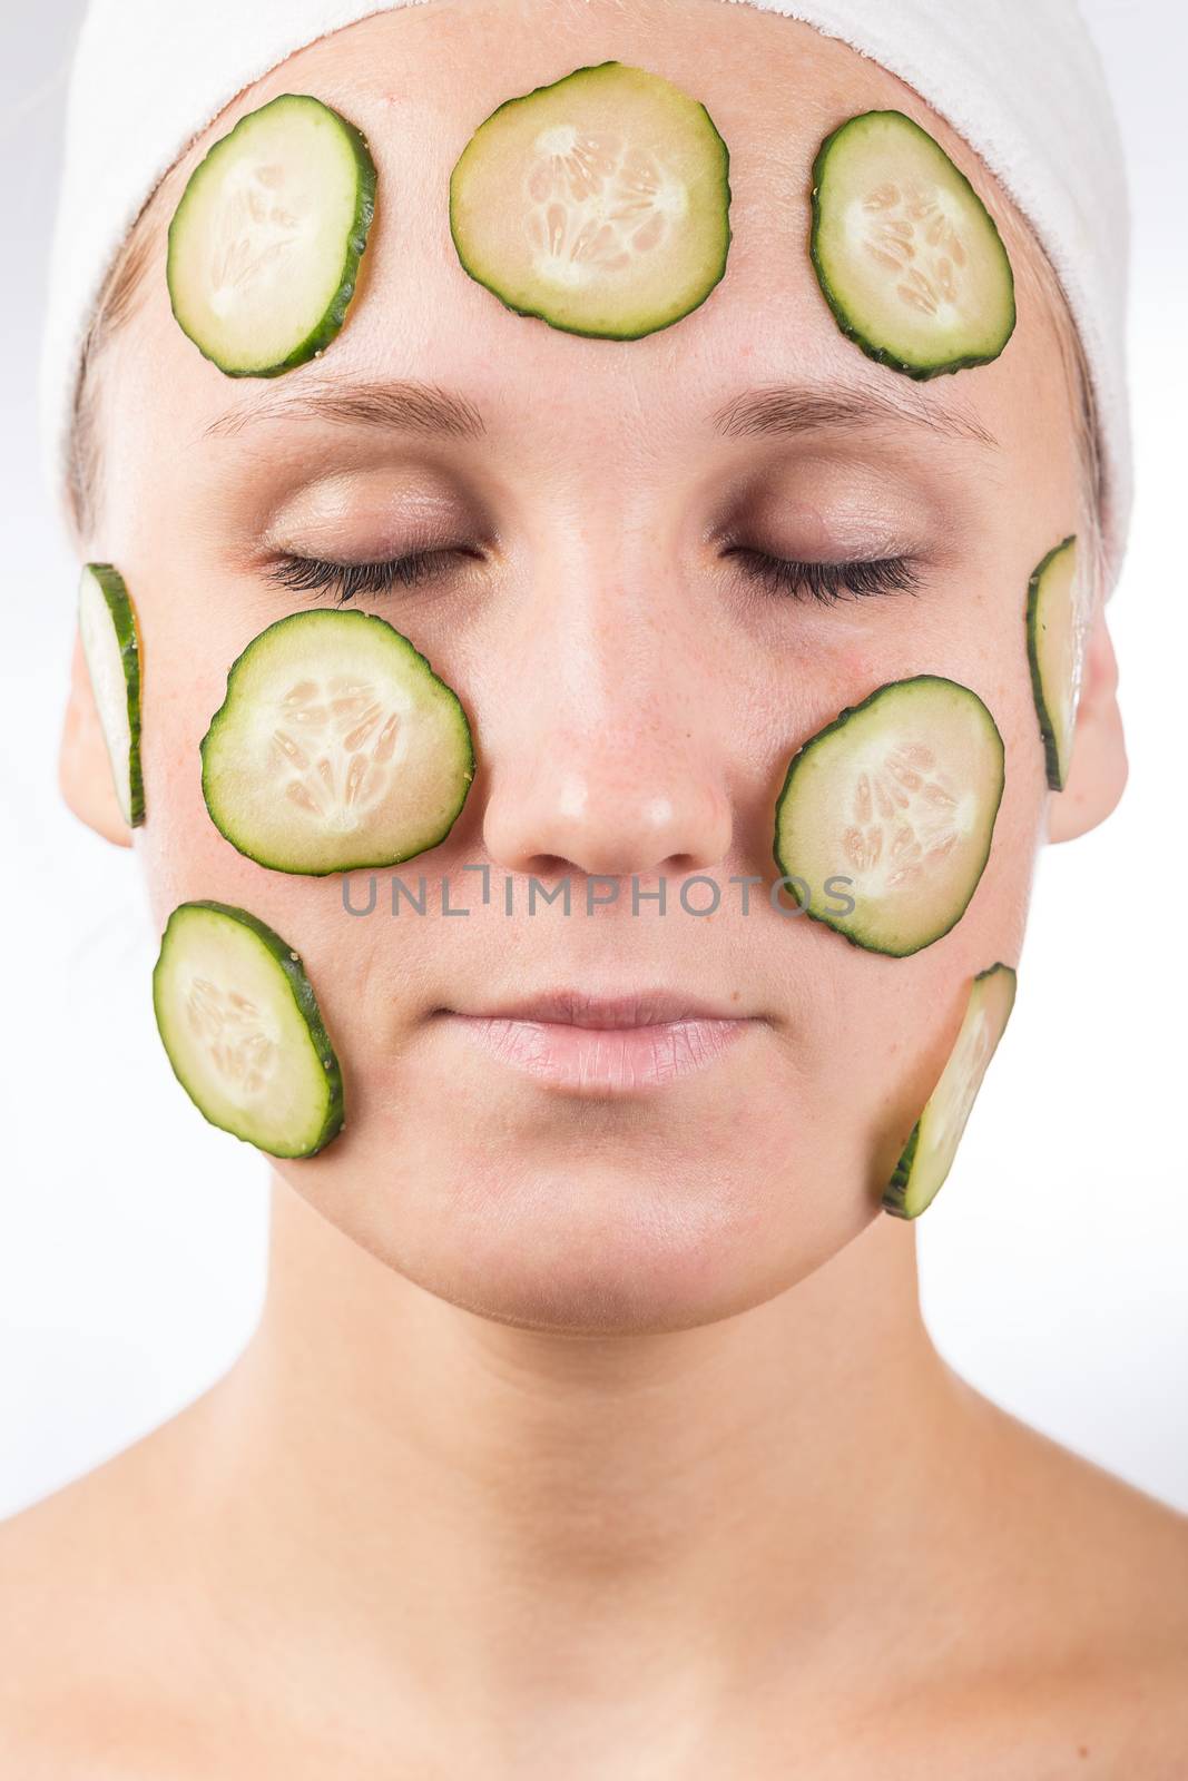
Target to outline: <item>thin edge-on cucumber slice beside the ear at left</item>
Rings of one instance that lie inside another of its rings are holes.
[[[78,636],[94,689],[116,796],[130,828],[144,821],[141,777],[141,632],[125,579],[110,563],[84,565]]]

